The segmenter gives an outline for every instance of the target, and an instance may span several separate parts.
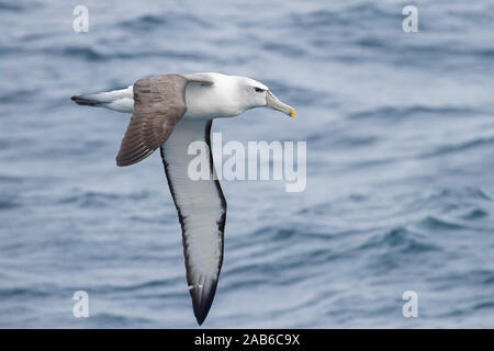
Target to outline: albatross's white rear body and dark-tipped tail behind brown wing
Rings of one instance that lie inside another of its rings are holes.
[[[82,94],[71,97],[75,103],[85,106],[105,107],[109,110],[133,113],[134,112],[134,91],[133,86],[106,92],[100,92],[94,94]]]

